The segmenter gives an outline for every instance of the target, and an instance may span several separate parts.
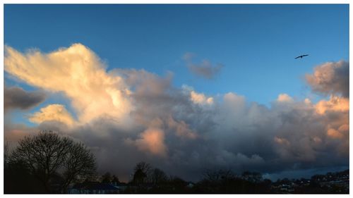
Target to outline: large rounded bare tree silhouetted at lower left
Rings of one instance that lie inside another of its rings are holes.
[[[50,182],[59,173],[64,178],[60,190],[65,191],[71,182],[83,180],[95,172],[95,158],[83,144],[52,131],[20,140],[10,160],[24,163],[47,192],[52,192]]]

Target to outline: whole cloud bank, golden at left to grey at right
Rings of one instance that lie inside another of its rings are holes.
[[[83,141],[99,169],[122,180],[141,160],[188,180],[200,178],[205,168],[275,173],[347,166],[349,94],[335,75],[348,65],[326,63],[315,68],[320,75],[306,75],[312,89],[331,94],[330,99],[313,103],[279,94],[268,107],[234,92],[210,97],[192,87],[172,87],[171,74],[107,73],[81,44],[49,54],[6,47],[5,56],[9,74],[71,99],[78,120],[64,106],[51,104],[30,117],[40,123],[37,129]],[[5,135],[16,130],[24,129],[6,126]]]

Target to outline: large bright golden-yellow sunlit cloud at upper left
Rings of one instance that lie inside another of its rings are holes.
[[[80,123],[100,116],[124,120],[131,111],[129,90],[118,75],[106,72],[104,63],[82,44],[44,54],[32,49],[20,53],[5,47],[4,70],[51,92],[64,92]]]

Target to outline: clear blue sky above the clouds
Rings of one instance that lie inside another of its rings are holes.
[[[236,92],[268,105],[308,97],[302,79],[349,61],[348,5],[6,5],[5,44],[44,52],[80,42],[112,68],[174,73],[205,94]],[[186,52],[222,63],[213,80],[190,73]],[[310,54],[303,59],[294,57]],[[6,78],[6,81],[8,78]]]

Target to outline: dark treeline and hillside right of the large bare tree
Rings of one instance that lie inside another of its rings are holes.
[[[198,182],[188,182],[177,176],[140,162],[133,168],[133,178],[128,183],[110,173],[100,182],[123,186],[119,193],[130,194],[348,194],[349,170],[325,175],[313,175],[310,179],[264,179],[258,172],[245,171],[236,174],[231,170],[208,170]],[[109,178],[109,179],[108,179]]]

